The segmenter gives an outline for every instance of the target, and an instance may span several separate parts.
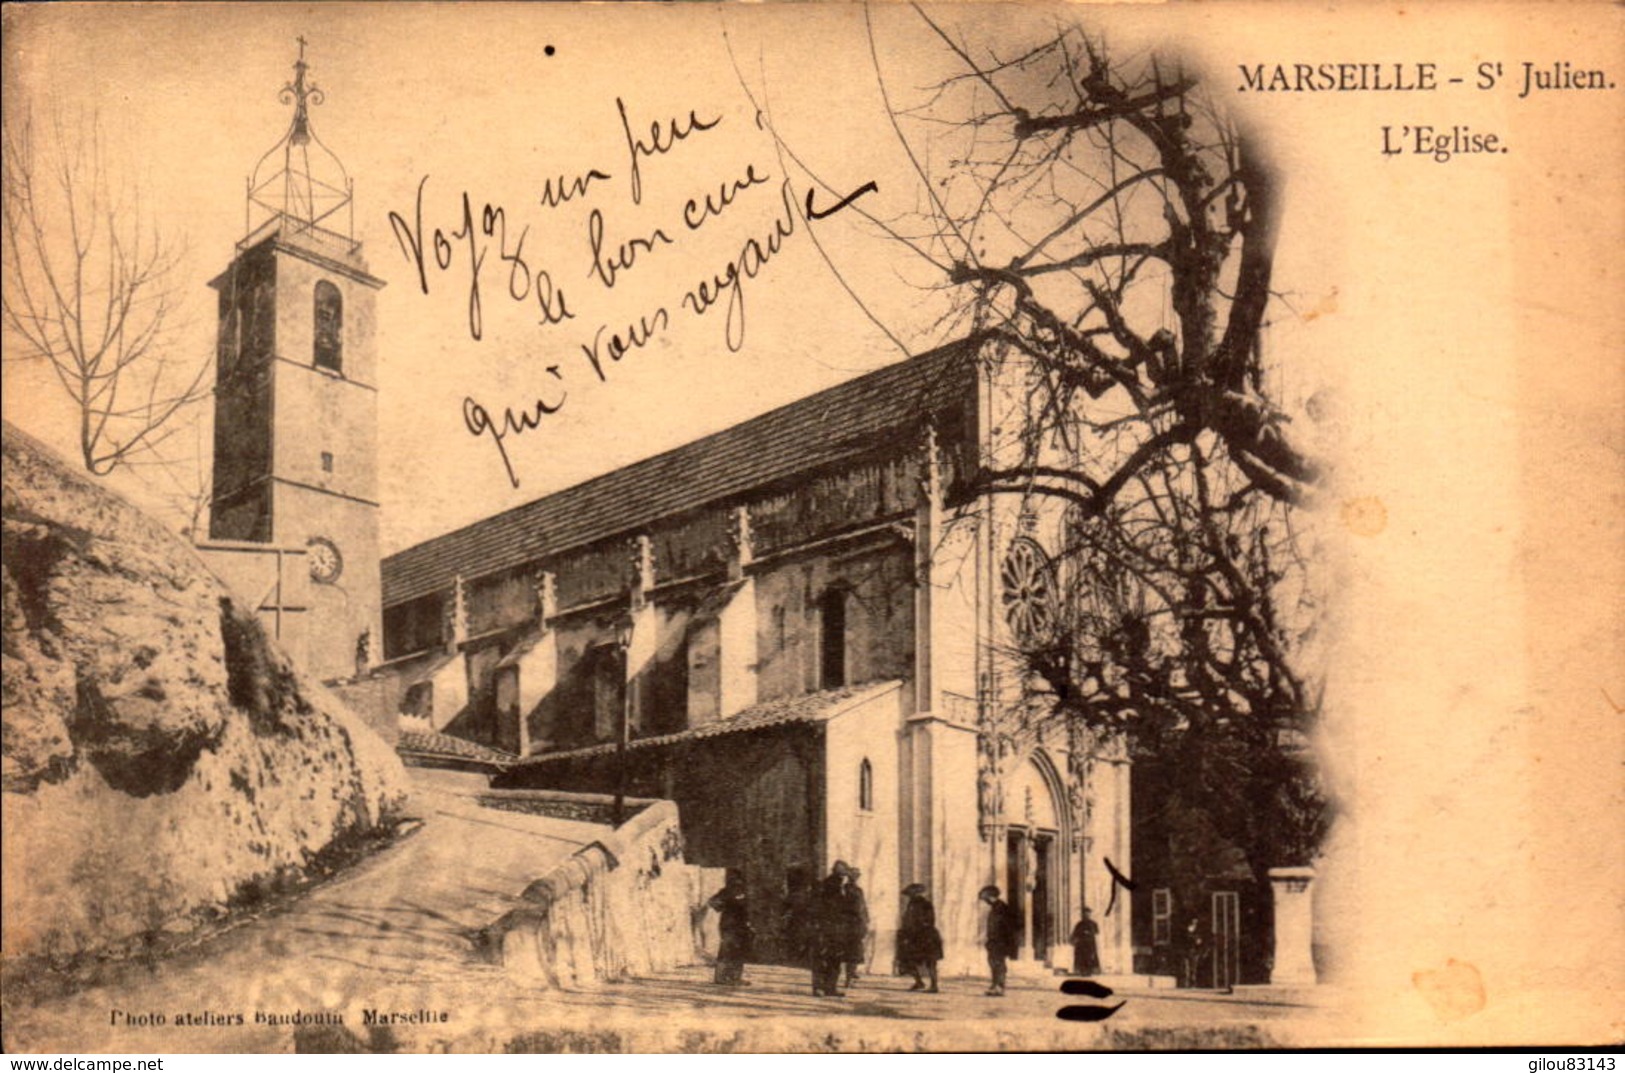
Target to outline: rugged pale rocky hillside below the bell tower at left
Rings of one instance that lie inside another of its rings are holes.
[[[395,753],[180,538],[3,432],[8,962],[150,945],[385,824]]]

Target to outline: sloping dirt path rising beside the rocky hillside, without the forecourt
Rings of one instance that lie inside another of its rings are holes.
[[[130,967],[32,1010],[11,1010],[23,1050],[281,1050],[273,1016],[367,1010],[462,1011],[515,992],[474,954],[531,880],[598,837],[592,824],[479,808],[426,772],[411,810],[422,828],[344,876],[150,971]],[[242,1024],[231,1024],[240,1014]],[[263,1018],[262,1018],[263,1014]],[[185,1019],[202,1023],[185,1024]]]

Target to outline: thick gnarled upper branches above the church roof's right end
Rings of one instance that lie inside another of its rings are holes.
[[[1302,501],[1316,465],[1290,442],[1263,361],[1279,190],[1256,140],[1178,62],[1113,57],[1066,23],[1004,55],[915,11],[957,73],[899,101],[873,28],[871,50],[920,206],[890,219],[852,208],[951,293],[946,332],[990,333],[1037,363],[1051,423],[1100,403],[1086,431],[1108,441],[1069,467],[1022,457],[986,473],[990,488],[1100,514],[1141,467],[1209,432],[1251,488]],[[765,98],[757,107],[772,128]]]

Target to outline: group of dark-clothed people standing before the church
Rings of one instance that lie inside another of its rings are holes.
[[[838,998],[845,987],[856,985],[868,962],[869,906],[858,880],[863,873],[843,860],[837,860],[829,876],[809,889],[793,891],[788,904],[786,933],[790,943],[812,969],[812,993]],[[904,888],[904,912],[897,928],[897,969],[913,975],[910,990],[938,992],[936,966],[942,959],[942,933],[936,928],[936,907],[926,896],[923,883]],[[1020,919],[999,897],[999,888],[985,886],[980,893],[986,910],[983,945],[988,954],[991,982],[988,995],[1003,995],[1008,962],[1020,946]],[[741,985],[744,962],[751,959],[752,932],[746,910],[744,886],[734,880],[710,899],[718,915],[720,943],[717,949],[715,982]],[[1095,943],[1098,927],[1084,909],[1084,917],[1072,928],[1072,971],[1081,975],[1100,972],[1100,956]]]

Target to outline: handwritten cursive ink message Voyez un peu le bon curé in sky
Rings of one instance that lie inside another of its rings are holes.
[[[687,146],[704,146],[705,135],[722,127],[723,117],[689,109],[682,115],[645,124],[634,120],[632,109],[621,98],[616,98],[614,109],[624,143],[621,159],[577,174],[548,177],[531,205],[510,208],[463,189],[452,198],[453,210],[448,216],[426,221],[431,185],[431,176],[426,174],[418,182],[411,210],[390,211],[396,247],[411,267],[419,293],[427,296],[440,288],[455,288],[466,298],[463,315],[470,340],[478,343],[486,338],[486,299],[491,298],[526,314],[538,330],[569,325],[577,333],[574,346],[578,348],[585,369],[601,384],[609,380],[609,371],[619,361],[648,346],[678,317],[705,317],[720,309],[723,343],[730,353],[736,353],[746,340],[746,285],[769,268],[800,229],[827,219],[878,190],[873,180],[864,182],[821,210],[814,206],[812,190],[806,192],[804,200],[798,200],[790,177],[774,176],[759,161],[744,161],[734,164],[722,180],[682,192],[658,226],[618,229],[616,221],[622,215],[618,210],[645,202],[647,169],[679,150],[702,151]],[[618,176],[624,177],[624,185]],[[765,190],[752,197],[757,187]],[[775,190],[777,197],[769,197],[767,190]],[[526,211],[559,210],[574,202],[592,205],[578,245],[557,249],[531,241]],[[748,203],[752,205],[749,211],[757,216],[744,224],[746,234],[725,263],[696,272],[681,260],[670,260],[668,250],[681,247],[689,236],[707,229],[713,221],[738,216],[746,210],[736,206]],[[661,280],[678,280],[668,301],[645,299],[644,306],[621,307],[616,315],[590,327],[574,324],[577,312],[559,280],[580,278],[585,280],[580,286],[593,288],[595,299],[613,298],[630,273],[647,273],[645,265],[663,258],[666,263],[661,267]],[[567,260],[585,263],[585,272],[569,272],[564,267]],[[569,400],[570,369],[566,364],[541,366],[540,377],[528,402],[497,406],[466,395],[462,405],[463,428],[474,437],[489,439],[514,488],[520,486],[520,476],[509,454],[509,437],[540,429]]]

